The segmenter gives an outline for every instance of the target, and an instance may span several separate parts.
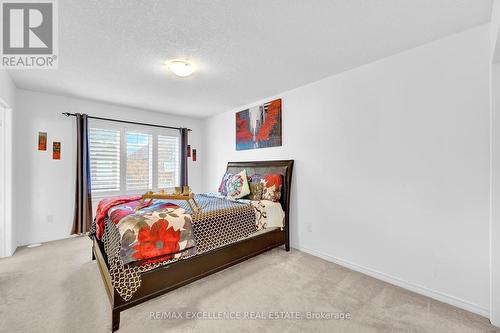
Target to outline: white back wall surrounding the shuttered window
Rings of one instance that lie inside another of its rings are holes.
[[[44,93],[18,90],[14,114],[14,223],[19,245],[68,237],[73,222],[75,191],[75,119],[79,112],[193,129],[189,141],[201,146],[201,121]],[[38,132],[48,133],[48,150],[37,150]],[[52,160],[52,142],[61,141],[61,160]],[[200,150],[200,149],[199,149]],[[199,161],[189,164],[189,182],[201,188]],[[49,222],[52,218],[52,222]]]

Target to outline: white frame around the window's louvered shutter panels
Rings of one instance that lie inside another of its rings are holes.
[[[159,128],[159,127],[151,127],[151,126],[142,126],[135,124],[127,124],[127,123],[112,123],[109,121],[99,120],[99,119],[90,119],[88,128],[102,128],[109,130],[118,130],[120,131],[120,189],[118,191],[100,191],[94,192],[92,191],[92,199],[103,199],[109,197],[117,197],[122,195],[140,195],[145,193],[146,191],[155,191],[159,190],[158,188],[158,135],[162,136],[175,136],[179,138],[179,155],[181,152],[180,148],[180,132],[175,129],[168,128]],[[152,188],[147,190],[127,190],[127,132],[132,133],[144,133],[150,134],[152,136]],[[89,146],[90,149],[90,146]],[[180,156],[178,163],[178,171],[180,173]],[[180,175],[177,177],[177,180],[180,181]],[[176,185],[178,186],[178,185]],[[170,190],[170,188],[166,188]]]

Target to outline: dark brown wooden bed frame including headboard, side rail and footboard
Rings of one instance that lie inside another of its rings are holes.
[[[141,274],[141,286],[128,301],[123,300],[113,288],[108,261],[104,252],[104,244],[93,237],[92,259],[97,261],[111,301],[111,327],[113,332],[119,329],[120,312],[126,309],[240,263],[272,248],[285,245],[285,250],[290,251],[289,212],[293,160],[229,162],[227,165],[228,171],[239,172],[242,169],[252,170],[257,173],[260,170],[261,173],[273,172],[283,175],[284,182],[280,200],[285,212],[283,230],[275,229],[251,238],[245,238],[201,255],[144,272]]]

